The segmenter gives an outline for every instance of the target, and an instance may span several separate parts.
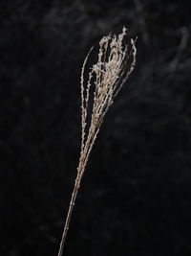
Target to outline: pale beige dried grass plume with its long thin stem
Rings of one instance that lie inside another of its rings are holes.
[[[109,107],[114,103],[117,93],[121,89],[136,64],[137,48],[135,40],[131,39],[130,50],[123,46],[123,39],[127,35],[123,28],[119,35],[107,35],[99,41],[99,52],[96,64],[93,64],[85,82],[84,73],[88,58],[84,60],[81,71],[81,151],[77,175],[74,183],[68,215],[65,221],[64,231],[57,256],[61,256],[69,229],[74,202],[80,187],[90,152],[96,141],[96,135]],[[131,63],[128,63],[130,60]],[[91,93],[93,95],[91,95]]]

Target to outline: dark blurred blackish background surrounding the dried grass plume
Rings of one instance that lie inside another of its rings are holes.
[[[64,255],[191,255],[190,21],[183,0],[1,0],[1,256],[56,255],[83,59],[123,25],[137,66],[98,135]]]

